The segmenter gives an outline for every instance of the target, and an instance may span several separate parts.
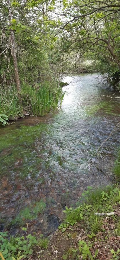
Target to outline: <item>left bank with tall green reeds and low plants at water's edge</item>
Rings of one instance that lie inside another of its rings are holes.
[[[45,116],[59,109],[65,94],[61,88],[66,84],[61,82],[59,87],[51,87],[50,84],[37,84],[35,87],[26,85],[21,88],[19,95],[16,86],[1,88],[0,125],[5,126],[24,116]]]

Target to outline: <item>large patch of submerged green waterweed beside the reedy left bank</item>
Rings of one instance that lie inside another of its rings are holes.
[[[4,130],[4,135],[1,133],[0,137],[0,173],[11,174],[19,169],[20,178],[27,177],[28,174],[35,177],[43,161],[42,157],[38,157],[35,141],[36,138],[41,138],[44,131],[48,133],[47,125],[22,125],[19,129],[9,129],[9,133],[8,128]],[[43,149],[39,153],[42,154]]]

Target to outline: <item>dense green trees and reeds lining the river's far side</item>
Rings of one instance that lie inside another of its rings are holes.
[[[57,109],[66,74],[99,71],[119,89],[119,8],[108,0],[1,0],[0,123]]]

